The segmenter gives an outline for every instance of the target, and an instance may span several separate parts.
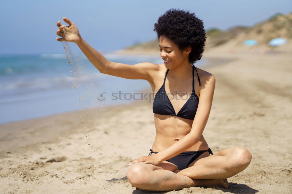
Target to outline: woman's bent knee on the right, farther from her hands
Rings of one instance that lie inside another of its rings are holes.
[[[246,168],[251,162],[251,152],[245,147],[234,147],[232,161],[236,167]]]

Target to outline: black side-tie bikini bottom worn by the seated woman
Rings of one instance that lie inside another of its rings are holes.
[[[152,153],[154,153],[154,154],[158,153],[158,152],[152,151],[152,149],[150,149],[150,151],[151,152],[148,156],[150,156]],[[208,151],[209,154],[213,155],[210,148],[208,148],[208,150],[184,151],[184,152],[178,154],[177,156],[174,156],[173,158],[170,158],[166,161],[171,162],[174,165],[176,165],[176,167],[178,167],[178,170],[183,170],[183,169],[187,168],[188,165],[190,165],[190,163],[192,163],[194,160],[196,160],[199,156],[201,156],[201,154],[203,154],[206,151]]]

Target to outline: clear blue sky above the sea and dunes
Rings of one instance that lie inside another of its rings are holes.
[[[0,2],[0,54],[62,53],[57,21],[72,20],[95,49],[111,52],[156,38],[154,23],[170,8],[194,12],[205,29],[253,26],[292,11],[291,0],[96,0]],[[65,24],[65,22],[63,22]]]

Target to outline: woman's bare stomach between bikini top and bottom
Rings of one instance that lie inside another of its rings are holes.
[[[175,116],[154,114],[156,136],[152,145],[154,152],[162,151],[190,133],[193,120]],[[201,136],[199,142],[185,151],[208,150],[208,144]]]

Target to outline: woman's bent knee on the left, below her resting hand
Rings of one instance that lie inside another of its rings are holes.
[[[151,182],[151,171],[153,170],[150,164],[135,163],[129,168],[127,178],[133,186],[139,187]]]

